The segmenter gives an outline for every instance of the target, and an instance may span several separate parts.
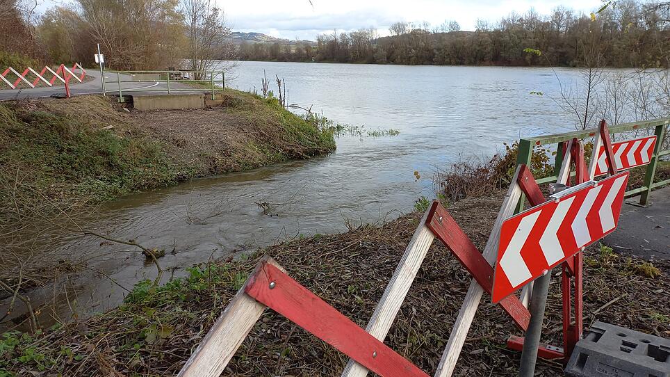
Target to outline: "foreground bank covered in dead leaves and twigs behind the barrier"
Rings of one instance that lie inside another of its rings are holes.
[[[502,193],[467,198],[450,213],[478,248],[495,220]],[[65,323],[38,335],[8,333],[0,342],[0,372],[77,376],[174,375],[202,341],[263,254],[277,259],[288,274],[337,310],[365,326],[382,296],[419,213],[343,234],[295,239],[236,261],[190,268],[187,278],[162,287],[140,282],[124,304],[88,320]],[[670,336],[670,264],[653,265],[622,257],[606,247],[585,254],[585,325],[619,323],[662,337]],[[557,272],[557,271],[556,271]],[[432,374],[466,294],[469,277],[459,262],[435,242],[409,291],[386,344]],[[559,344],[559,278],[550,285],[544,340]],[[486,303],[459,360],[455,376],[512,376],[519,354],[505,348],[520,335],[496,305]],[[631,308],[635,315],[630,315]],[[226,376],[338,376],[347,358],[283,317],[263,314],[236,353]],[[542,376],[561,373],[557,362],[539,362]]]

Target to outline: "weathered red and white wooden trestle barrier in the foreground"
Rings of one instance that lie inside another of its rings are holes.
[[[594,154],[598,153],[600,145],[605,146],[607,161],[610,163],[609,173],[616,173],[612,146],[604,121],[600,123],[594,144]],[[591,159],[591,165],[586,167],[584,149],[577,139],[569,141],[564,150],[559,152],[565,157],[557,174],[558,183],[569,183],[573,162],[577,184],[594,176],[594,163],[597,161]],[[260,318],[266,305],[348,355],[351,359],[343,371],[343,376],[365,376],[368,371],[382,377],[427,376],[414,364],[384,345],[383,340],[434,238],[439,239],[473,276],[435,374],[451,376],[482,294],[485,291],[490,294],[492,290],[493,263],[496,261],[500,242],[500,227],[505,219],[514,214],[522,194],[528,198],[532,207],[546,202],[530,169],[523,164],[516,169],[483,252],[477,250],[448,211],[434,201],[409,241],[366,330],[290,278],[271,258],[265,257],[191,355],[179,376],[219,376]],[[562,266],[564,348],[541,346],[538,355],[542,358],[567,358],[582,334],[581,252],[566,259]],[[571,277],[575,280],[574,323],[571,323]],[[498,305],[509,314],[518,328],[528,328],[530,313],[517,296],[507,296]],[[508,346],[520,350],[523,338],[509,338]]]

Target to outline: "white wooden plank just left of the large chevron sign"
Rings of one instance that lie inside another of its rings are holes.
[[[514,173],[514,178],[512,178],[512,184],[509,185],[507,195],[505,195],[503,207],[501,207],[500,212],[498,212],[498,218],[496,218],[496,223],[493,224],[493,230],[491,230],[489,241],[487,241],[487,245],[484,248],[484,258],[487,259],[487,262],[489,262],[491,266],[498,257],[500,227],[503,226],[503,220],[514,214],[516,205],[521,199],[521,187],[516,184],[520,170],[521,166],[517,166],[516,173]],[[470,330],[472,321],[475,318],[477,307],[480,305],[482,294],[484,294],[484,288],[482,288],[480,284],[477,284],[477,282],[473,279],[470,283],[470,287],[468,288],[468,293],[465,296],[463,305],[461,305],[461,310],[458,312],[454,327],[451,330],[449,342],[444,349],[440,364],[438,365],[437,371],[435,372],[436,377],[448,377],[451,376],[454,372],[456,362],[458,361],[458,356],[461,353],[461,349],[463,348],[466,337],[468,337],[468,330]]]

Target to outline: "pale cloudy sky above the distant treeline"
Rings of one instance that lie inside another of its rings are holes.
[[[44,1],[48,8],[58,0]],[[525,13],[534,8],[549,14],[562,5],[577,13],[589,14],[600,7],[600,0],[213,0],[224,8],[234,31],[256,31],[279,38],[316,39],[319,33],[352,31],[373,27],[387,35],[397,21],[423,22],[438,26],[455,19],[462,30],[474,30],[477,19],[496,22],[513,11]]]

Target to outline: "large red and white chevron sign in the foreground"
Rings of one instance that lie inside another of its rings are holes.
[[[493,303],[614,231],[628,172],[586,182],[503,221]]]

